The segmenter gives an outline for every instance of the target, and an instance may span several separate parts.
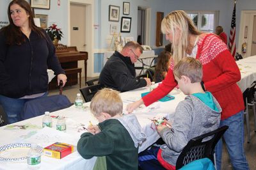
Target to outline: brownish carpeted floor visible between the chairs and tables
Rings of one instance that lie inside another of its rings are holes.
[[[87,80],[90,80],[94,77],[88,77]],[[82,77],[82,85],[81,88],[85,87],[85,82]],[[49,95],[58,94],[58,89],[49,91]],[[79,84],[74,86],[66,86],[63,88],[63,95],[66,95],[70,102],[74,102],[76,100],[76,94],[80,93]],[[247,143],[247,132],[246,127],[244,126],[244,151],[246,153],[246,159],[250,166],[250,169],[256,169],[256,132],[254,132],[254,120],[253,120],[253,111],[249,111],[250,114],[250,136],[251,142]],[[245,125],[245,124],[244,124]],[[232,166],[228,157],[228,153],[226,148],[224,147],[223,155],[222,155],[222,167],[223,170],[231,170]]]

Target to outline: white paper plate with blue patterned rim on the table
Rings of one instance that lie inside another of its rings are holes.
[[[13,143],[0,147],[0,161],[20,161],[25,160],[30,149],[30,143]],[[42,147],[38,150],[42,152]]]

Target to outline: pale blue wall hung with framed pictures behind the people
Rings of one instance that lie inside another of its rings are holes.
[[[29,1],[29,0],[28,0]],[[234,7],[233,0],[125,0],[125,2],[130,3],[130,15],[123,15],[123,1],[120,0],[94,0],[95,6],[95,16],[94,24],[99,24],[98,29],[94,29],[94,47],[93,49],[97,51],[93,55],[94,57],[94,72],[100,72],[102,68],[102,52],[108,50],[108,40],[111,38],[109,36],[109,26],[110,24],[118,24],[118,29],[120,31],[120,22],[123,16],[131,17],[131,33],[122,33],[122,36],[133,36],[134,40],[137,38],[137,13],[138,6],[145,8],[151,8],[151,26],[150,26],[150,45],[154,47],[156,40],[156,12],[164,12],[164,15],[172,12],[173,10],[196,10],[196,11],[208,11],[208,10],[217,10],[220,11],[219,16],[219,25],[223,26],[224,31],[229,35],[230,24],[232,18],[232,11]],[[1,22],[8,21],[6,15],[6,8],[10,0],[1,0],[0,1],[0,24]],[[119,22],[109,22],[108,20],[108,10],[109,4],[120,6],[120,20]],[[58,27],[63,31],[64,38],[61,40],[61,43],[67,44],[68,37],[68,1],[61,1],[61,5],[58,6],[56,0],[51,1],[50,10],[40,10],[35,9],[35,13],[48,15],[48,26],[50,22],[56,22]],[[241,10],[256,10],[256,1],[255,0],[237,0],[236,5],[236,42],[238,42],[239,36],[239,24],[241,17]],[[168,42],[164,41],[164,45]],[[154,49],[159,52],[161,49]],[[99,52],[100,51],[100,52]],[[100,60],[101,59],[101,60]]]

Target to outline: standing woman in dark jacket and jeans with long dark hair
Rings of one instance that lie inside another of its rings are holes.
[[[8,6],[10,24],[0,30],[0,104],[9,123],[20,121],[24,103],[47,95],[47,68],[67,82],[49,36],[35,26],[33,12],[25,0]]]

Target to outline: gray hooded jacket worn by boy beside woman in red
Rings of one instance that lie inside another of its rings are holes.
[[[172,129],[164,128],[160,134],[166,143],[161,146],[162,157],[166,162],[175,166],[180,152],[190,139],[219,127],[222,110],[217,100],[212,98],[218,111],[212,110],[193,95],[179,103],[175,110]]]

